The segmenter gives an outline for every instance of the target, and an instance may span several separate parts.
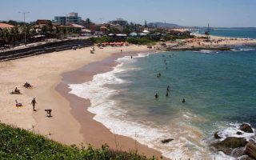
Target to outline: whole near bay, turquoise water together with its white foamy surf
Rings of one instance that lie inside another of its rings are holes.
[[[114,70],[91,82],[70,84],[70,93],[90,98],[88,110],[114,134],[168,158],[230,159],[209,150],[214,132],[238,137],[242,122],[256,126],[255,48],[144,53],[117,61]],[[255,141],[253,134],[242,136]],[[174,140],[162,144],[166,138]]]

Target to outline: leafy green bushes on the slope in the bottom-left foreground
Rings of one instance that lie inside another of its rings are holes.
[[[110,150],[107,145],[101,149],[92,146],[66,146],[27,130],[0,123],[1,159],[85,159],[85,160],[146,160],[134,152]],[[152,160],[156,158],[150,158]]]

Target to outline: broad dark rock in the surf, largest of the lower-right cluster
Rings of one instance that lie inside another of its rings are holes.
[[[247,143],[248,142],[245,138],[229,137],[226,138],[224,141],[214,143],[211,146],[214,146],[217,151],[222,151],[224,154],[230,155],[232,150],[234,150],[235,148],[244,147]]]

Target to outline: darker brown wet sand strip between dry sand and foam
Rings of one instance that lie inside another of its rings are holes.
[[[82,128],[80,133],[84,136],[86,143],[93,144],[93,146],[96,147],[101,147],[102,144],[107,143],[113,150],[138,150],[138,153],[148,157],[156,156],[160,158],[161,153],[159,151],[150,149],[148,146],[138,143],[133,138],[113,134],[102,123],[95,121],[93,119],[95,114],[87,110],[88,107],[90,107],[90,99],[79,98],[74,94],[69,94],[69,83],[81,84],[83,82],[89,82],[96,74],[114,70],[114,66],[118,65],[118,62],[115,62],[117,58],[122,58],[127,55],[136,55],[138,53],[139,52],[126,52],[113,54],[109,58],[103,59],[101,62],[93,62],[82,66],[82,68],[78,70],[64,73],[62,74],[62,82],[56,86],[56,90],[70,102],[70,107],[72,108],[71,114],[81,123]],[[93,71],[91,71],[92,69]]]

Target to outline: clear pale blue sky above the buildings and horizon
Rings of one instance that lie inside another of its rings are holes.
[[[256,0],[0,0],[0,21],[53,20],[78,12],[82,19],[109,22],[169,22],[181,26],[256,27]]]

